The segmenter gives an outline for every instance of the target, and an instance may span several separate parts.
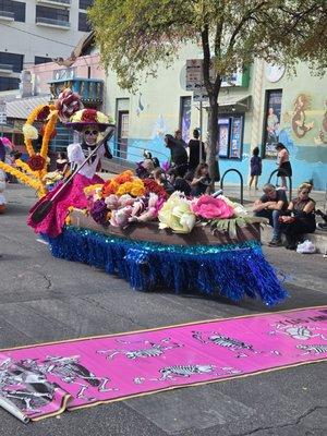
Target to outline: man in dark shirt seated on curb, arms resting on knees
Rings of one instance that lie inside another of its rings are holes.
[[[288,208],[288,199],[283,190],[276,190],[274,184],[266,183],[263,187],[264,195],[255,201],[253,211],[256,217],[269,219],[272,227],[272,239],[269,246],[281,245],[281,226],[279,217]]]

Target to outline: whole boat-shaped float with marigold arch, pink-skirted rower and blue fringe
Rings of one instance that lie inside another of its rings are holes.
[[[64,89],[55,105],[33,110],[23,128],[27,161],[17,159],[15,168],[0,162],[0,169],[36,190],[40,199],[28,225],[49,242],[53,256],[102,268],[135,290],[196,291],[232,301],[258,298],[267,305],[286,299],[262,252],[263,219],[250,217],[241,205],[222,195],[168,196],[155,180],[141,180],[132,171],[106,182],[94,174],[87,183],[75,183],[114,129],[104,113],[81,108],[78,96]],[[84,125],[100,126],[96,147],[63,180],[47,171],[58,119],[80,133]],[[37,120],[43,123],[39,152],[33,147]],[[53,222],[60,215],[56,229],[46,217],[49,213]],[[41,220],[48,220],[47,226]]]

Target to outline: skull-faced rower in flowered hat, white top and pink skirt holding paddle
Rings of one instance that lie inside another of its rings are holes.
[[[94,109],[83,109],[74,113],[68,125],[72,126],[82,135],[81,143],[74,143],[68,146],[69,161],[72,170],[74,170],[84,162],[86,156],[96,147],[99,133],[104,132],[107,126],[110,125],[110,122],[108,117],[101,112]],[[84,187],[96,183],[105,183],[105,181],[96,174],[96,170],[100,158],[109,153],[110,150],[107,144],[101,145],[96,155],[80,169],[71,183],[69,183],[65,186],[65,190],[61,192],[60,196],[53,201],[49,214],[40,222],[35,223],[32,219],[33,213],[40,203],[45,199],[50,199],[57,193],[61,187],[61,183],[58,184],[58,187],[50,191],[45,197],[37,202],[29,210],[27,220],[28,226],[34,228],[36,233],[44,233],[51,238],[58,237],[62,232],[69,207],[73,206],[80,209],[87,207],[88,203],[84,194]]]

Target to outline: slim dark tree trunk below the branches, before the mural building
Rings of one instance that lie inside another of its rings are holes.
[[[218,140],[218,95],[211,95],[208,109],[208,148],[206,161],[209,166],[209,173],[213,180],[219,181],[219,162],[217,154]]]

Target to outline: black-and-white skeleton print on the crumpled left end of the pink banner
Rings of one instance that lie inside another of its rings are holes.
[[[0,395],[11,400],[20,410],[39,412],[53,400],[59,388],[47,380],[39,371],[24,365],[25,361],[5,360],[0,365]]]

